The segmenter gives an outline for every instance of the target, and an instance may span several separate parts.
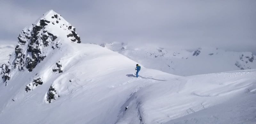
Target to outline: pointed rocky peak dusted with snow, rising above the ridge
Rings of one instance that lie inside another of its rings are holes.
[[[1,66],[3,80],[10,79],[12,69],[28,69],[31,72],[44,60],[49,50],[60,48],[60,41],[81,43],[75,27],[55,11],[47,11],[32,26],[24,28],[19,34],[15,53],[8,64]]]

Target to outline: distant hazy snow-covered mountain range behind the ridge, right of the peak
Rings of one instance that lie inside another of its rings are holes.
[[[146,68],[180,76],[256,69],[256,56],[251,52],[232,52],[204,47],[190,51],[178,47],[136,46],[119,42],[100,46],[125,55]]]

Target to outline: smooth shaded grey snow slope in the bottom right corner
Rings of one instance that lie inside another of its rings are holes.
[[[164,124],[255,124],[255,92],[221,103]]]

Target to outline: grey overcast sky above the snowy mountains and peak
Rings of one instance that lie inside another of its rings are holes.
[[[0,0],[0,42],[17,42],[24,27],[51,9],[76,27],[84,43],[212,46],[256,54],[256,0]]]

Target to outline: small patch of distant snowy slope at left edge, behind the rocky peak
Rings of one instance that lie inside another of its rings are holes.
[[[0,45],[0,66],[8,62],[14,48],[15,46],[12,44]]]

